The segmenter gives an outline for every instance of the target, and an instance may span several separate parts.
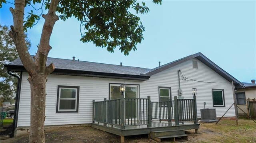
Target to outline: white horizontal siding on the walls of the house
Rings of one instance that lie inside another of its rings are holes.
[[[193,70],[192,60],[198,63],[198,70]],[[83,76],[65,76],[50,74],[46,83],[46,119],[45,125],[68,125],[68,124],[83,124],[92,122],[92,100],[102,101],[104,98],[109,98],[109,84],[136,84],[139,85],[140,98],[151,96],[152,102],[159,101],[159,86],[172,87],[172,100],[174,96],[178,96],[178,70],[187,78],[207,81],[207,82],[228,82],[209,67],[204,65],[197,59],[185,61],[172,68],[154,74],[147,81],[122,80],[113,78],[96,78]],[[20,106],[18,115],[18,127],[30,125],[30,85],[28,83],[28,74],[24,73],[22,77],[22,87],[20,96]],[[78,113],[56,113],[57,86],[80,86],[79,94],[79,112]],[[232,86],[230,84],[213,84],[195,81],[184,81],[180,79],[180,86],[183,90],[184,98],[192,99],[192,88],[197,88],[197,112],[200,118],[200,109],[213,108],[212,104],[212,89],[224,89],[226,107],[216,108],[217,117],[221,117],[224,112],[233,104]],[[225,117],[235,116],[234,106],[226,113]]]

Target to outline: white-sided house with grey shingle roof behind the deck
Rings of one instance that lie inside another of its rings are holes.
[[[74,58],[48,58],[47,65],[50,63],[54,63],[55,70],[48,76],[46,83],[46,126],[92,123],[92,100],[120,98],[120,84],[126,85],[125,98],[151,96],[152,102],[166,101],[168,98],[174,100],[174,96],[178,96],[178,89],[182,89],[184,99],[193,99],[192,88],[197,88],[198,118],[200,109],[204,108],[204,102],[205,108],[216,108],[217,117],[221,117],[234,103],[231,82],[234,82],[236,88],[243,86],[202,53],[154,69],[76,61]],[[28,73],[20,59],[5,67],[9,71],[21,72],[15,127],[28,127]],[[181,72],[178,72],[179,70]],[[70,94],[69,98],[66,98],[67,94]],[[234,116],[233,106],[225,117]]]

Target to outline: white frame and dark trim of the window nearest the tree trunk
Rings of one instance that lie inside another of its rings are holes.
[[[60,98],[60,94],[61,94],[61,89],[74,89],[76,90],[76,98]],[[63,86],[60,86],[58,87],[58,108],[57,108],[57,112],[78,112],[77,110],[77,104],[78,104],[78,90],[79,90],[79,87],[74,87],[74,86],[70,86],[70,87],[63,87]],[[75,100],[75,109],[60,109],[60,100]]]

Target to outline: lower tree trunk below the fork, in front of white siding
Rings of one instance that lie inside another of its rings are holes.
[[[46,75],[40,73],[28,78],[31,88],[30,143],[44,143]]]

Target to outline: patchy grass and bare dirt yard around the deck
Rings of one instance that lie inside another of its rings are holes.
[[[186,131],[190,134],[188,140],[176,139],[176,143],[246,143],[256,142],[256,123],[248,119],[239,119],[239,124],[233,119],[222,119],[217,125],[214,123],[200,123],[199,134],[194,130]],[[58,129],[45,134],[46,143],[119,143],[120,136],[113,135],[92,127],[70,127]],[[28,137],[2,140],[5,143],[26,143]],[[1,142],[2,142],[1,141]],[[127,143],[153,143],[148,135],[126,136]],[[164,139],[163,143],[173,142]]]

